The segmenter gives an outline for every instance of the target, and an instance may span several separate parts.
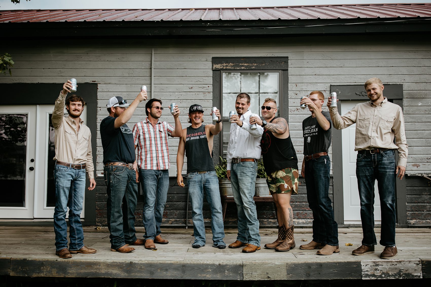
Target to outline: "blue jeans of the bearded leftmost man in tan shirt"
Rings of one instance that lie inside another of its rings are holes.
[[[66,212],[69,207],[69,250],[84,246],[81,212],[85,193],[85,168],[55,165],[54,232],[56,251],[67,248]]]

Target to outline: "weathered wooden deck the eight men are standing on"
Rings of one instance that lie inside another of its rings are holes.
[[[340,228],[341,251],[332,256],[299,249],[304,244],[301,240],[312,240],[310,228],[295,229],[297,247],[289,252],[262,247],[250,254],[241,253],[241,249],[213,248],[210,230],[207,245],[200,249],[191,247],[193,229],[162,229],[169,244],[156,244],[156,251],[134,246],[136,250],[127,254],[109,250],[106,227],[85,227],[84,232],[84,243],[96,248],[97,253],[59,259],[55,255],[53,228],[0,226],[0,275],[215,280],[431,278],[429,228],[397,228],[398,256],[388,260],[379,258],[383,250],[379,245],[374,254],[351,255],[362,240],[361,228]],[[138,228],[137,235],[142,234],[143,229]],[[276,230],[269,228],[261,229],[260,234],[262,246],[277,236]],[[236,230],[227,229],[225,243],[235,239]]]

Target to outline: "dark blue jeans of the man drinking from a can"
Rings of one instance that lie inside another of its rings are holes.
[[[305,162],[305,184],[308,206],[313,212],[313,241],[331,246],[338,245],[338,225],[329,198],[329,156]]]

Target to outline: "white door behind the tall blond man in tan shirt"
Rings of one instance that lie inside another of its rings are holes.
[[[362,102],[343,101],[341,103],[341,115],[353,109]],[[341,131],[343,145],[343,195],[344,195],[344,224],[361,224],[361,203],[359,200],[358,181],[356,179],[356,155],[355,151],[356,124]],[[378,196],[377,181],[374,185],[374,220],[380,224],[380,198]]]

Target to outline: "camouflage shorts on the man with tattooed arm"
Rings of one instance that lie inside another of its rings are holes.
[[[284,168],[271,172],[266,177],[269,192],[298,194],[298,170],[296,168]]]

